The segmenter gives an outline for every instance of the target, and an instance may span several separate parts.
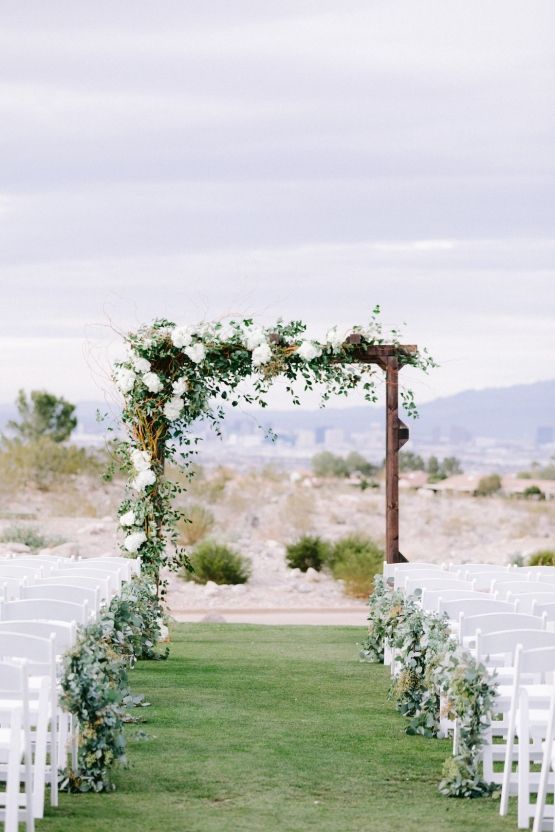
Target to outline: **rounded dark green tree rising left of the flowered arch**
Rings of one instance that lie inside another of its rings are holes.
[[[16,407],[19,420],[8,422],[8,428],[23,441],[46,437],[53,442],[64,442],[77,426],[75,405],[46,390],[32,390],[29,398],[20,390]]]

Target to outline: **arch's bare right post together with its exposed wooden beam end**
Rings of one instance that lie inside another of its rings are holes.
[[[354,334],[347,340],[358,344],[361,339]],[[416,352],[413,344],[381,344],[361,347],[355,358],[363,364],[377,364],[385,371],[385,552],[388,563],[407,560],[399,551],[399,451],[409,438],[408,427],[399,419],[399,354],[414,355]]]

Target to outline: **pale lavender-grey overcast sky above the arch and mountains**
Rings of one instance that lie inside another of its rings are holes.
[[[376,303],[421,400],[555,377],[552,0],[0,0],[0,123],[1,402]]]

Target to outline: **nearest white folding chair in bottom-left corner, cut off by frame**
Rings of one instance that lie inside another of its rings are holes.
[[[17,832],[20,821],[27,832],[33,832],[29,687],[23,662],[0,661],[0,777],[6,783],[6,790],[0,792],[4,832]]]

